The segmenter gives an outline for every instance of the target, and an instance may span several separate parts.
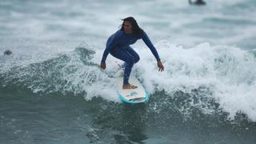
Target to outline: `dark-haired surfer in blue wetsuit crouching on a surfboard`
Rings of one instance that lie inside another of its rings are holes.
[[[106,57],[110,53],[114,58],[121,59],[124,61],[124,76],[123,76],[123,85],[122,89],[136,89],[138,86],[134,86],[129,83],[129,77],[134,63],[139,61],[138,54],[130,47],[131,44],[137,42],[138,39],[141,39],[146,43],[154,54],[154,57],[157,60],[159,71],[164,70],[164,66],[158,56],[158,51],[155,49],[150,38],[147,36],[144,30],[142,30],[136,20],[133,17],[128,17],[122,19],[122,27],[120,30],[115,32],[108,38],[106,42],[106,49],[104,50],[101,67],[103,70],[106,69]]]

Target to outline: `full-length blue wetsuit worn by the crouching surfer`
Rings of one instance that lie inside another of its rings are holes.
[[[146,43],[146,46],[148,46],[151,52],[154,54],[154,57],[159,61],[160,58],[158,56],[158,51],[155,49],[152,42],[150,42],[150,38],[146,35],[144,31],[142,31],[142,34],[136,35],[126,34],[124,31],[118,30],[116,33],[112,34],[106,42],[106,49],[102,56],[102,63],[106,62],[106,57],[109,53],[115,58],[124,61],[124,85],[129,84],[131,68],[134,66],[134,63],[139,61],[138,54],[130,47],[130,45],[137,42],[137,40],[140,38],[142,38],[142,40]]]

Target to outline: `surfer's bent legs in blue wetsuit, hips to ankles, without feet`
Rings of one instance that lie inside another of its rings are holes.
[[[126,62],[123,85],[128,85],[131,69],[134,66],[134,63],[139,61],[138,54],[130,46],[126,46],[123,48],[114,48],[114,50],[110,51],[110,54],[113,55],[115,58],[121,59],[122,61]]]

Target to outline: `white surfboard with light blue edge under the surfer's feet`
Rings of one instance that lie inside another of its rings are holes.
[[[138,78],[130,77],[129,82],[134,86],[138,86],[136,89],[122,89],[122,77],[116,77],[116,87],[118,97],[122,100],[122,102],[127,103],[142,103],[149,101],[149,94],[146,92],[142,83],[138,81]]]

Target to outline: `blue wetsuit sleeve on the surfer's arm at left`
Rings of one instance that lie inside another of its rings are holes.
[[[106,57],[108,54],[110,54],[110,50],[112,50],[114,48],[114,46],[117,44],[118,39],[121,37],[120,32],[117,32],[115,34],[113,34],[110,37],[110,40],[108,42],[106,42],[106,49],[104,50],[104,53],[102,55],[102,62],[105,63],[106,62]]]

